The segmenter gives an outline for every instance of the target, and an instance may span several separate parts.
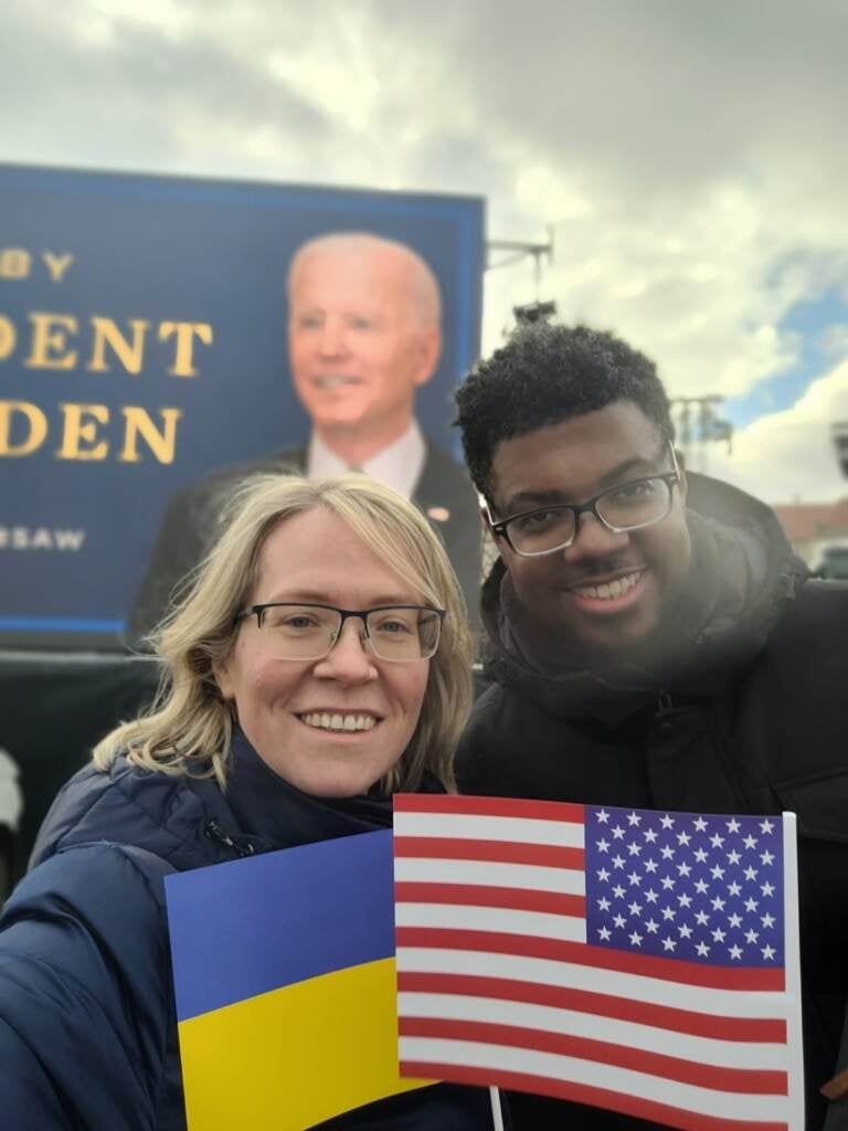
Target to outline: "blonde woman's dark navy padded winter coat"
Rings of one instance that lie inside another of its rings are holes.
[[[0,920],[3,1131],[184,1131],[164,877],[390,823],[388,798],[309,797],[241,735],[226,796],[123,758],[77,774]],[[492,1114],[485,1090],[438,1085],[321,1126],[487,1131]]]

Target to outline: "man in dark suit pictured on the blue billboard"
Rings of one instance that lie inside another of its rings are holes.
[[[412,248],[367,232],[309,240],[288,270],[288,359],[312,433],[298,448],[217,472],[168,504],[136,595],[130,637],[148,632],[215,541],[233,485],[254,472],[321,480],[355,468],[412,499],[444,542],[469,608],[479,602],[477,495],[425,437],[415,396],[442,348],[439,284]]]

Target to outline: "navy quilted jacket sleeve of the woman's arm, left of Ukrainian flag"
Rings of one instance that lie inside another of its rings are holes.
[[[154,1131],[173,1001],[162,879],[140,849],[81,845],[0,920],[3,1125]]]

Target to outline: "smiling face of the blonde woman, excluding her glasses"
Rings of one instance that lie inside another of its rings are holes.
[[[271,601],[363,610],[424,604],[419,593],[321,507],[285,519],[266,539],[246,604]],[[379,659],[363,647],[362,629],[361,620],[346,620],[323,659],[278,659],[271,630],[248,616],[216,670],[218,687],[234,701],[239,724],[259,757],[317,797],[365,793],[400,759],[418,722],[430,661]],[[357,729],[325,725],[336,715]]]

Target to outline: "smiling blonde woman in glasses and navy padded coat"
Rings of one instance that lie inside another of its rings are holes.
[[[250,481],[153,642],[156,702],[62,789],[0,924],[17,1131],[184,1128],[165,874],[387,827],[393,792],[452,788],[461,597],[426,520],[372,480]],[[331,1125],[491,1114],[441,1085]]]

